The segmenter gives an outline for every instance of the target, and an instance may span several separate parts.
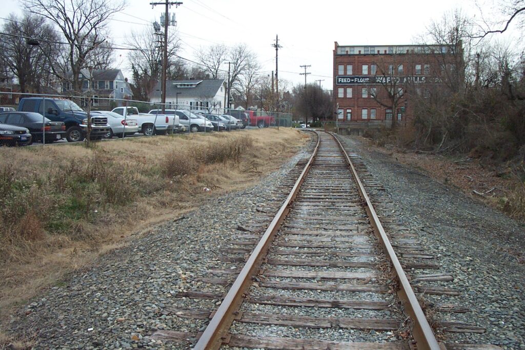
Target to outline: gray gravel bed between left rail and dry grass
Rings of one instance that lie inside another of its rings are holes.
[[[34,338],[35,349],[187,348],[187,344],[153,341],[155,330],[202,331],[207,320],[163,314],[165,307],[216,309],[218,300],[176,298],[181,291],[225,293],[220,285],[198,281],[209,269],[236,269],[222,262],[230,245],[256,208],[275,210],[285,194],[289,172],[308,153],[300,152],[279,171],[242,192],[210,196],[186,219],[166,222],[147,235],[135,235],[94,266],[68,276],[13,315],[10,331]],[[281,190],[282,192],[282,190]]]

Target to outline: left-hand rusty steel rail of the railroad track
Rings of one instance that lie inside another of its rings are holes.
[[[266,252],[268,251],[271,242],[275,237],[275,234],[281,227],[282,222],[285,220],[286,215],[290,211],[290,204],[292,204],[293,200],[295,200],[297,197],[299,189],[304,182],[304,178],[308,174],[310,166],[317,155],[317,151],[319,150],[319,145],[321,143],[321,137],[317,132],[316,134],[318,136],[317,145],[310,157],[310,160],[304,167],[295,185],[293,185],[290,194],[280,207],[277,215],[271,221],[264,235],[262,235],[254,251],[250,254],[246,264],[226,294],[223,302],[215,312],[212,320],[209,322],[208,326],[202,333],[197,344],[195,344],[193,347],[194,350],[218,349],[223,340],[225,340],[226,333],[228,332],[232,322],[235,320],[240,304],[243,302],[246,292],[250,288],[251,279],[257,274],[262,263],[262,259],[265,257]]]

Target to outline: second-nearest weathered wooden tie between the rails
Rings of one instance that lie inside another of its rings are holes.
[[[398,329],[402,321],[391,319],[350,319],[348,317],[314,317],[243,312],[243,315],[240,317],[238,322],[271,324],[289,327],[340,327],[359,330],[391,331]]]

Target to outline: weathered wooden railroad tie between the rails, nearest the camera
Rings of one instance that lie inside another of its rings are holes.
[[[243,334],[232,334],[228,345],[239,348],[264,348],[271,350],[409,350],[407,342],[351,343]]]

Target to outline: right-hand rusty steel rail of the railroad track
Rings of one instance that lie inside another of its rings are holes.
[[[366,194],[366,190],[364,189],[363,183],[361,182],[361,179],[359,178],[359,175],[355,170],[355,167],[352,161],[350,160],[348,153],[346,153],[346,151],[344,150],[344,147],[339,141],[339,139],[333,133],[330,134],[333,136],[335,141],[337,141],[342,153],[346,158],[346,162],[348,162],[348,165],[351,168],[355,182],[358,184],[358,189],[361,198],[365,202],[365,210],[370,218],[370,223],[374,228],[374,234],[376,235],[377,239],[379,239],[385,255],[394,267],[394,271],[396,274],[396,278],[399,282],[400,288],[397,291],[397,295],[403,301],[405,312],[412,318],[412,336],[414,337],[414,341],[416,342],[417,349],[446,350],[445,345],[443,343],[437,342],[432,327],[430,327],[430,325],[428,324],[426,316],[423,310],[421,309],[421,305],[419,305],[419,302],[417,301],[414,290],[412,289],[410,282],[406,277],[405,271],[403,270],[403,267],[401,266],[401,263],[397,258],[397,255],[390,243],[390,240],[388,239],[388,236],[386,235],[383,225],[381,225],[381,221],[379,220],[379,217],[375,212],[374,206],[372,205],[372,201],[370,200],[370,197]]]

